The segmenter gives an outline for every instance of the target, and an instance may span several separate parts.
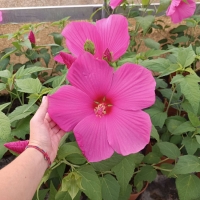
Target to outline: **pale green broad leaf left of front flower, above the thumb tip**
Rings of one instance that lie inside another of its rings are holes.
[[[40,93],[42,89],[42,84],[38,78],[16,79],[16,85],[20,88],[18,91],[30,94]]]

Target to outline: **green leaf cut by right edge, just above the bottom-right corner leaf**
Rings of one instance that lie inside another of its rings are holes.
[[[193,155],[180,156],[171,174],[200,172],[200,159]]]

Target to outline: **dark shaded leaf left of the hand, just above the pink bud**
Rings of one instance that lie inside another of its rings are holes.
[[[22,138],[25,140],[26,134],[29,134],[30,131],[30,120],[32,116],[28,116],[24,119],[21,119],[15,129],[12,129],[12,136],[17,136],[17,138]]]

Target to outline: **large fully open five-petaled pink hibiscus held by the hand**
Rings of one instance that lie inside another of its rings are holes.
[[[48,96],[48,113],[61,129],[74,131],[88,161],[145,147],[151,120],[141,109],[155,101],[155,81],[148,69],[127,63],[114,71],[106,61],[84,53],[67,78],[71,85]]]

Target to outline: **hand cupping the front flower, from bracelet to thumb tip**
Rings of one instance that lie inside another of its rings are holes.
[[[42,104],[30,121],[29,145],[36,145],[48,153],[51,162],[56,157],[58,145],[65,131],[51,120],[47,113],[48,98],[42,99]]]

